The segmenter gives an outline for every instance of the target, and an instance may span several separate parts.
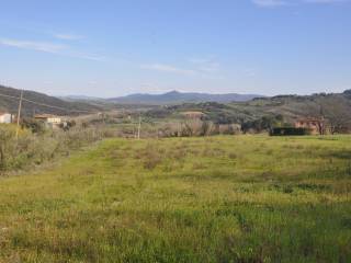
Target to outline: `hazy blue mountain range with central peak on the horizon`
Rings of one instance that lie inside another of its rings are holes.
[[[179,92],[170,91],[163,94],[131,94],[126,96],[107,99],[109,102],[121,104],[148,104],[148,105],[165,105],[165,104],[181,104],[181,103],[200,103],[200,102],[245,102],[254,98],[262,98],[258,94],[208,94],[195,92]]]

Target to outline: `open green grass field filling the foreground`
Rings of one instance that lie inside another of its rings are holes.
[[[0,262],[351,262],[351,137],[111,139],[0,179]]]

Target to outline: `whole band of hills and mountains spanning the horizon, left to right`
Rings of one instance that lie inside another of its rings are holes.
[[[0,111],[16,113],[21,91],[0,85]],[[35,103],[33,103],[35,102]],[[351,90],[342,93],[313,95],[181,93],[132,94],[123,98],[97,100],[64,100],[34,91],[24,91],[23,114],[52,113],[77,115],[120,107],[143,108],[152,118],[177,118],[182,112],[199,111],[215,123],[254,122],[264,116],[281,115],[287,122],[298,117],[324,117],[335,126],[351,127]],[[155,105],[152,107],[148,105]]]

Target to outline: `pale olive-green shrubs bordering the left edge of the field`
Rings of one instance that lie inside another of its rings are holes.
[[[0,125],[0,174],[53,161],[111,136],[106,130],[93,127],[49,132],[36,122],[23,122],[23,127],[32,132],[21,129],[16,139],[15,126]]]

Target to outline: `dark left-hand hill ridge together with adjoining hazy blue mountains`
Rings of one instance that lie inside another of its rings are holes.
[[[7,111],[15,114],[19,106],[21,90],[0,85],[0,111]],[[36,113],[50,113],[57,115],[75,115],[90,112],[109,111],[133,106],[148,105],[177,105],[182,103],[200,102],[242,102],[250,101],[260,95],[253,94],[206,94],[206,93],[182,93],[178,91],[167,92],[165,94],[132,94],[121,98],[101,99],[86,95],[70,96],[50,96],[44,93],[25,90],[23,100],[23,115],[33,115]]]

